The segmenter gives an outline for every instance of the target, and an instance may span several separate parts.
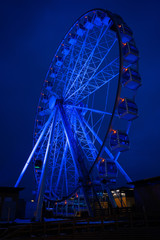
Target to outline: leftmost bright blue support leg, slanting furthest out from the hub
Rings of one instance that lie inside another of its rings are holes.
[[[27,167],[29,166],[29,164],[30,164],[30,162],[31,162],[31,160],[32,160],[32,157],[33,157],[33,155],[34,155],[34,153],[35,153],[35,151],[36,151],[36,149],[37,149],[37,147],[38,147],[40,141],[41,141],[42,138],[43,138],[43,135],[44,135],[45,132],[46,132],[46,129],[47,129],[48,125],[49,125],[50,122],[51,122],[51,119],[53,118],[53,114],[54,114],[54,112],[51,113],[51,115],[50,115],[48,121],[46,122],[46,124],[45,124],[45,126],[44,126],[44,128],[43,128],[43,130],[42,130],[42,132],[41,132],[41,134],[40,134],[40,136],[39,136],[39,138],[38,138],[36,144],[34,145],[34,148],[33,148],[32,152],[31,152],[31,154],[30,154],[30,156],[29,156],[29,158],[28,158],[26,164],[24,165],[24,167],[23,167],[23,169],[22,169],[22,171],[21,171],[21,174],[20,174],[20,176],[19,176],[19,178],[18,178],[18,180],[17,180],[17,182],[16,182],[16,184],[15,184],[14,187],[18,187],[18,185],[19,185],[19,183],[20,183],[20,181],[21,181],[21,179],[22,179],[22,177],[23,177],[25,171],[27,170]]]

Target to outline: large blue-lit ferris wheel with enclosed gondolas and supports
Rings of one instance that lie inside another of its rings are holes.
[[[88,11],[65,35],[43,84],[34,147],[15,185],[32,161],[38,206],[43,197],[62,201],[82,189],[91,213],[89,191],[96,194],[102,176],[112,182],[118,169],[131,181],[118,158],[129,149],[138,116],[138,60],[132,30],[107,10]]]

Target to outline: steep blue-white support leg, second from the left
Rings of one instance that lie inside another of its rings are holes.
[[[51,125],[50,132],[49,132],[49,138],[48,138],[47,148],[46,148],[46,152],[45,152],[45,156],[44,156],[41,178],[40,178],[40,182],[38,185],[38,192],[37,192],[37,198],[36,198],[36,202],[37,202],[37,209],[36,209],[36,216],[35,216],[36,221],[41,220],[41,212],[42,212],[44,190],[45,190],[46,171],[47,171],[47,157],[48,157],[48,151],[49,151],[49,146],[50,146],[50,141],[51,141],[52,129],[53,129],[53,123]]]

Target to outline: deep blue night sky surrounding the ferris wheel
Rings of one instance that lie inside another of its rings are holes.
[[[6,0],[0,3],[1,186],[14,186],[32,150],[42,83],[58,45],[74,21],[93,8],[121,15],[140,51],[139,118],[129,133],[130,151],[120,162],[133,180],[160,175],[160,2]],[[20,186],[33,184],[30,166]]]

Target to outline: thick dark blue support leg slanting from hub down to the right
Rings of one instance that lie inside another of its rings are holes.
[[[89,202],[90,187],[87,186],[87,182],[88,182],[88,180],[90,180],[88,178],[88,171],[85,167],[84,160],[81,157],[81,154],[78,150],[77,143],[76,143],[76,140],[74,138],[74,134],[72,132],[72,129],[70,127],[70,123],[68,122],[68,119],[66,117],[64,108],[63,108],[63,106],[60,102],[58,102],[58,108],[59,108],[59,112],[61,114],[61,119],[62,119],[62,122],[63,122],[66,138],[67,138],[68,143],[69,143],[69,148],[70,148],[70,152],[71,152],[73,161],[75,161],[75,164],[77,165],[77,169],[80,170],[79,171],[79,174],[80,174],[79,177],[81,179],[81,184],[82,184],[84,198],[85,198],[85,201],[86,201],[86,204],[87,204],[88,212],[89,212],[90,216],[93,216],[93,211],[92,211],[92,208],[91,208],[91,205],[90,205],[90,202]]]

